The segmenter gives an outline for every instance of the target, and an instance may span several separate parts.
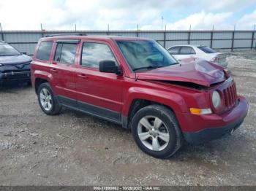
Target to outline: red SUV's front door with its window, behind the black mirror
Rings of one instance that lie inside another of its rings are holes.
[[[78,107],[85,112],[121,122],[124,77],[99,71],[100,61],[118,62],[107,42],[84,41],[75,74]]]

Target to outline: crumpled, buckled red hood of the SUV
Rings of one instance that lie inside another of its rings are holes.
[[[197,85],[210,87],[212,84],[226,79],[224,69],[203,59],[185,62],[136,73],[136,79],[148,79],[173,82],[192,82]]]

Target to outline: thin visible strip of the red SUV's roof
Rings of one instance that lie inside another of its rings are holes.
[[[97,35],[90,35],[90,36],[80,36],[80,35],[68,35],[68,36],[49,36],[42,38],[45,39],[102,39],[102,40],[151,40],[141,37],[130,37],[130,36],[97,36]]]

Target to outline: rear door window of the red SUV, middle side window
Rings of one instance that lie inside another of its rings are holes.
[[[58,43],[54,61],[67,64],[74,63],[77,46],[77,44]]]

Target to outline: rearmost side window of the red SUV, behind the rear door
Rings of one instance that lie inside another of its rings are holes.
[[[52,41],[41,42],[37,51],[37,59],[42,61],[49,61],[50,51],[53,47]]]

